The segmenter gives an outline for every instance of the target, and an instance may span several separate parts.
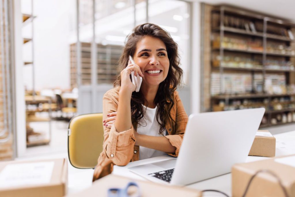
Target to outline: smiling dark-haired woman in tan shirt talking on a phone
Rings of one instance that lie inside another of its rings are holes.
[[[168,32],[151,23],[135,27],[119,68],[114,88],[103,98],[104,145],[93,180],[111,173],[113,165],[163,154],[177,157],[188,120],[175,90],[183,74],[177,44]],[[142,76],[139,92],[134,92],[132,71]]]

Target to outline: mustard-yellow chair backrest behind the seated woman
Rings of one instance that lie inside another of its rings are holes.
[[[102,152],[104,128],[102,113],[73,117],[68,128],[68,157],[76,168],[94,168]]]

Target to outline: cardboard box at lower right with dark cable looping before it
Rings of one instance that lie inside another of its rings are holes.
[[[232,196],[242,196],[250,178],[259,170],[269,170],[274,173],[281,180],[287,195],[295,197],[295,155],[234,165]],[[285,197],[278,180],[267,172],[260,172],[253,178],[246,194],[246,197],[250,196]]]

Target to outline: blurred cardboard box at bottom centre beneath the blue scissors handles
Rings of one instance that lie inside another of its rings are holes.
[[[140,188],[142,197],[145,196],[169,196],[169,197],[201,197],[201,191],[183,188],[178,186],[162,185],[150,181],[132,180],[130,178],[117,175],[107,175],[99,180],[94,181],[92,186],[84,191],[70,195],[71,197],[80,196],[100,196],[107,197],[109,188],[125,188],[130,181],[136,182]]]

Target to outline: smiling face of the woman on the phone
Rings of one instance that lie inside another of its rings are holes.
[[[138,41],[133,59],[144,75],[143,85],[158,86],[166,79],[169,59],[166,46],[159,38],[145,36]]]

